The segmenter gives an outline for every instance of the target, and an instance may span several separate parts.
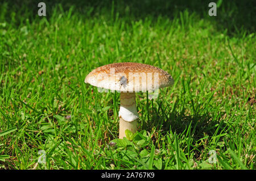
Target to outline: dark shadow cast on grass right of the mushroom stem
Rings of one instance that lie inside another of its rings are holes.
[[[221,114],[224,115],[225,113]],[[219,114],[218,117],[223,115]],[[188,134],[197,140],[206,135],[212,137],[217,128],[218,131],[221,131],[225,127],[226,124],[220,118],[213,119],[209,112],[188,114],[185,113],[185,109],[178,112],[174,108],[174,111],[169,113],[154,111],[150,121],[147,124],[143,124],[141,129],[150,131],[156,128],[156,131],[160,130],[163,135],[165,134],[164,132],[167,133],[169,131],[176,132],[177,134]]]

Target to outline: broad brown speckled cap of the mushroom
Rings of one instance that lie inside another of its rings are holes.
[[[152,65],[122,62],[100,66],[91,71],[85,83],[122,92],[146,92],[171,86],[171,75]]]

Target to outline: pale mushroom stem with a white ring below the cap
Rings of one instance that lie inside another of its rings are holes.
[[[137,113],[135,92],[121,92],[119,110],[119,138],[126,137],[125,131],[129,129],[135,133],[137,131]]]

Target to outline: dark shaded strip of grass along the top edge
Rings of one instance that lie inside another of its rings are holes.
[[[9,22],[23,23],[27,18],[31,21],[39,18],[38,3],[41,1],[19,1],[12,0],[8,3],[0,3],[2,6],[0,12],[0,20],[7,19]],[[69,11],[70,7],[74,7],[73,12],[78,12],[84,19],[93,16],[104,15],[106,18],[121,19],[127,22],[131,20],[139,20],[150,17],[157,20],[158,16],[164,16],[169,19],[180,18],[181,12],[188,10],[189,14],[196,14],[199,19],[207,19],[214,23],[218,31],[227,31],[229,35],[239,35],[240,31],[247,33],[255,32],[255,12],[256,6],[253,0],[234,0],[234,1],[187,1],[187,0],[142,0],[142,1],[115,1],[115,0],[87,0],[87,1],[43,1],[46,3],[47,16],[49,19],[56,13]],[[216,2],[217,16],[209,16],[209,2]],[[0,7],[1,7],[0,6]],[[59,11],[55,12],[55,8]],[[15,12],[15,14],[13,13]],[[16,15],[16,16],[15,16]],[[57,15],[58,16],[58,15]],[[184,18],[184,17],[183,17]],[[186,19],[183,20],[187,21]]]

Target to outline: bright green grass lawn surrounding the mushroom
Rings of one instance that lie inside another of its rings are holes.
[[[0,169],[256,169],[253,10],[90,3],[49,3],[46,17],[37,3],[0,3]],[[138,132],[118,140],[119,93],[84,79],[127,61],[175,83],[138,93]]]

